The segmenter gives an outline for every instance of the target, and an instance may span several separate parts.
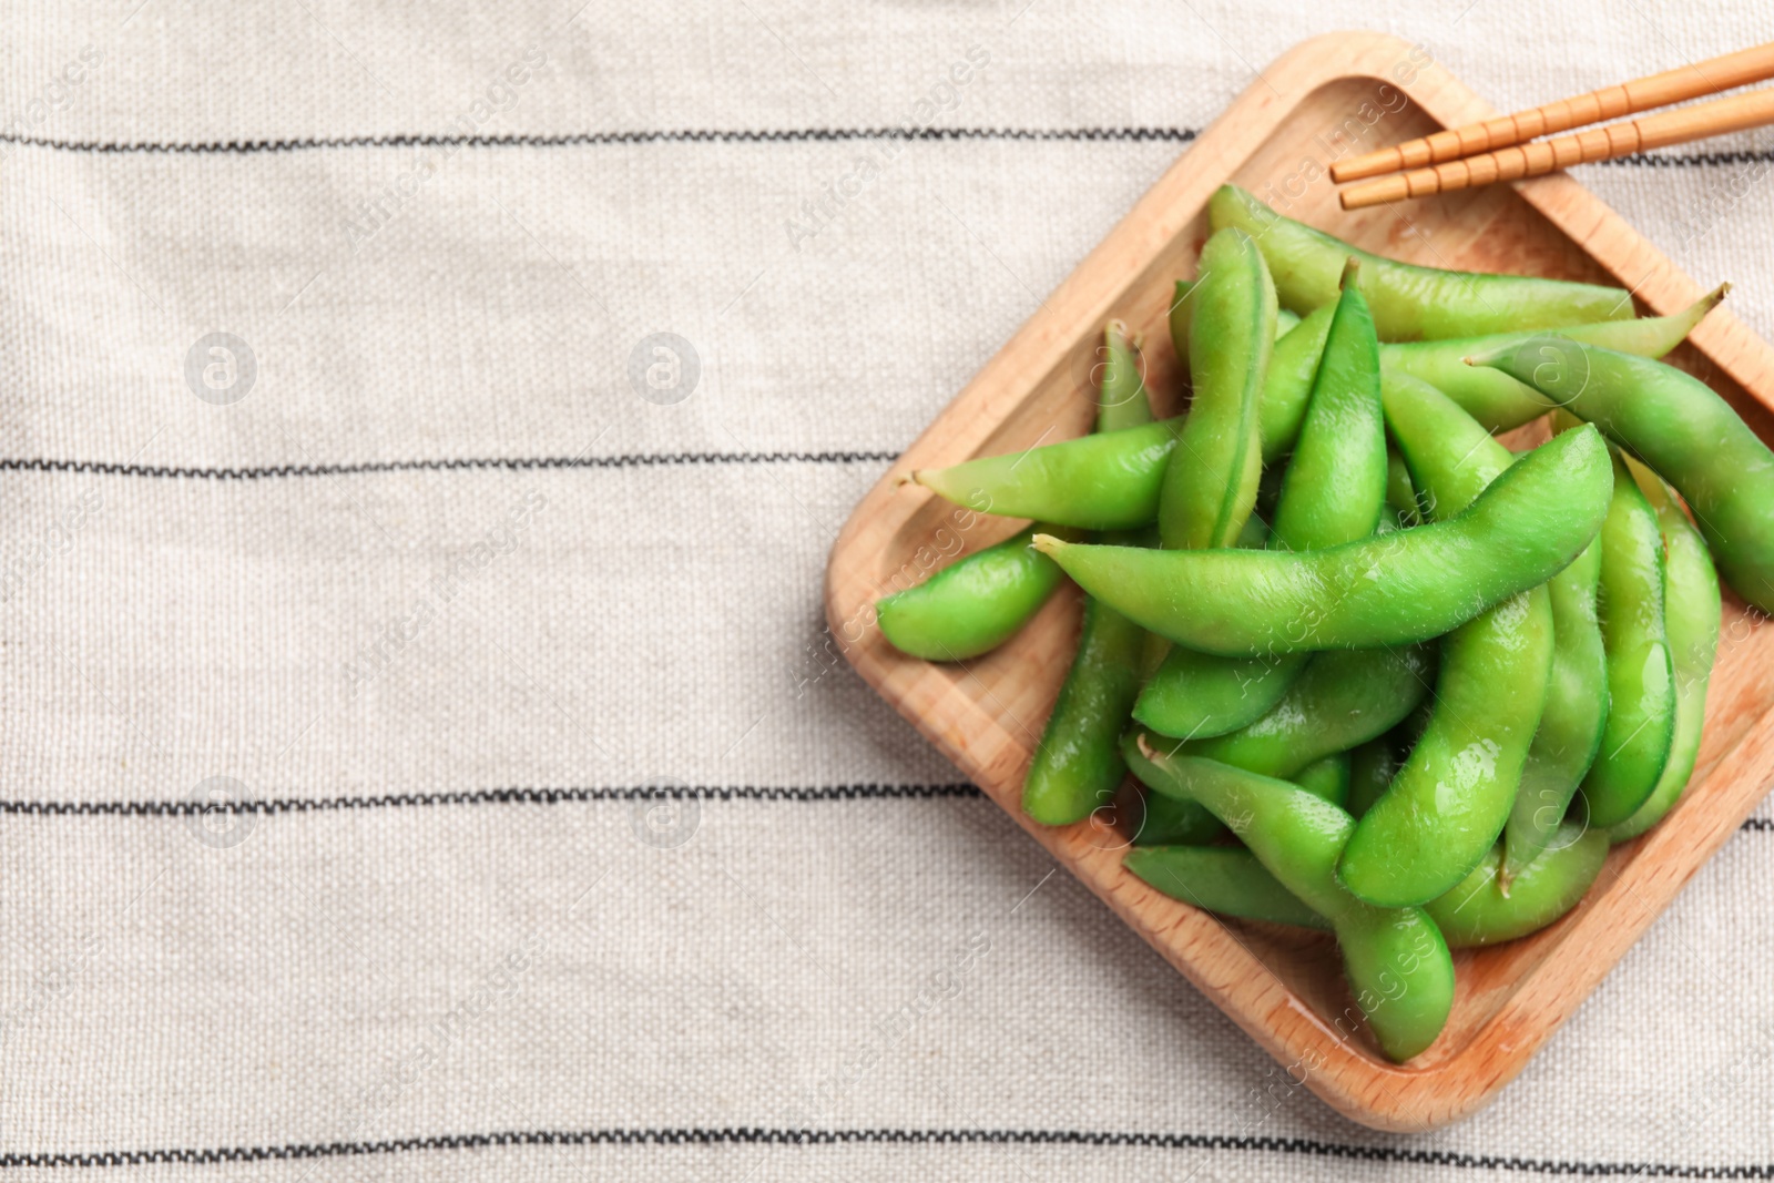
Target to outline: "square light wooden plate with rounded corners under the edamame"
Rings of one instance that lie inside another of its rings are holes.
[[[969,663],[896,653],[873,628],[882,594],[960,546],[1022,523],[972,516],[917,486],[912,468],[1084,435],[1102,326],[1146,337],[1148,385],[1178,387],[1166,312],[1194,275],[1206,200],[1224,181],[1370,250],[1432,266],[1616,282],[1673,312],[1699,294],[1662,254],[1570,177],[1343,213],[1332,160],[1494,115],[1428,53],[1380,34],[1332,34],[1270,66],[1164,174],[862,500],[832,548],[827,615],[839,646],[894,708],[977,782],[1171,965],[1334,1109],[1380,1130],[1425,1130],[1490,1101],[1595,990],[1689,876],[1739,828],[1774,775],[1774,630],[1726,591],[1699,764],[1675,812],[1609,857],[1588,899],[1552,928],[1455,954],[1458,993],[1440,1039],[1407,1066],[1339,1022],[1352,1006],[1334,945],[1222,922],[1121,867],[1125,841],[1086,821],[1048,830],[1018,809],[1022,779],[1071,662],[1077,594],[1057,596],[1015,640]],[[1673,360],[1774,440],[1774,349],[1715,310]],[[1160,408],[1162,410],[1162,408]],[[1354,1011],[1350,1011],[1354,1015]],[[1359,1023],[1357,1023],[1359,1025]]]

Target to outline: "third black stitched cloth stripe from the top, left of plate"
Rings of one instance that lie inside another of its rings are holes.
[[[428,805],[564,805],[571,802],[717,800],[717,802],[878,802],[983,796],[970,784],[825,784],[825,786],[614,786],[601,789],[467,789],[461,793],[385,793],[376,796],[270,796],[222,802],[7,802],[0,814],[83,818],[184,818],[202,812],[309,814],[342,809],[401,809]]]

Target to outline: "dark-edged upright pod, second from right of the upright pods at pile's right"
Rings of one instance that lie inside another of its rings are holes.
[[[1611,708],[1602,747],[1581,791],[1590,825],[1605,830],[1650,798],[1675,741],[1662,534],[1657,514],[1618,456],[1614,504],[1602,527],[1598,608]]]

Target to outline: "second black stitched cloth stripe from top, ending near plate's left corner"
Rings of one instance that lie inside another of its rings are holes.
[[[174,477],[181,481],[273,481],[279,477],[349,477],[376,472],[449,472],[458,468],[662,468],[669,465],[866,465],[891,463],[899,452],[630,452],[623,456],[463,456],[454,459],[369,459],[342,465],[268,465],[259,468],[174,468],[103,459],[0,458],[0,472],[90,472],[103,477]]]

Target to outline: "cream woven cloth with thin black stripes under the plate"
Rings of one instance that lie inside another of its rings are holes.
[[[1299,37],[1508,108],[1765,7],[577,4],[7,7],[0,1174],[1774,1172],[1774,814],[1495,1107],[1380,1135],[820,610],[891,458]],[[1770,163],[1581,179],[1769,333]]]

